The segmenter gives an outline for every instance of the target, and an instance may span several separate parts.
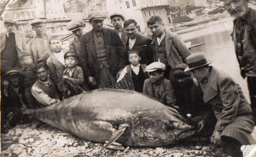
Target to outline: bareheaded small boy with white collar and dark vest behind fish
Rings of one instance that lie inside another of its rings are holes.
[[[127,73],[133,80],[134,90],[137,92],[143,92],[143,85],[148,75],[143,70],[146,68],[146,64],[140,64],[140,52],[137,50],[128,51],[128,60],[131,63],[123,68],[120,77],[117,79],[119,82]]]

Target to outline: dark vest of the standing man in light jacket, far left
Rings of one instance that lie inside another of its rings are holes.
[[[14,33],[9,33],[9,37],[6,36],[4,51],[1,52],[1,75],[18,66],[18,62],[15,35]]]

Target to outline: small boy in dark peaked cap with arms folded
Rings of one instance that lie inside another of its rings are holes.
[[[67,80],[70,80],[83,88],[84,74],[82,68],[77,66],[79,58],[76,52],[68,51],[64,55],[64,58],[67,69],[63,72],[62,87],[64,97],[68,98],[76,95],[76,91],[69,85]]]

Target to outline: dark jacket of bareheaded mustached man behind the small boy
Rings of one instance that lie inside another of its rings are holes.
[[[136,36],[136,42],[134,43],[132,50],[137,50],[140,52],[140,64],[149,65],[153,62],[153,47],[150,46],[151,42],[152,40],[144,35],[138,33],[138,35]],[[125,51],[126,54],[128,51],[130,51],[129,38],[127,38],[125,42]]]

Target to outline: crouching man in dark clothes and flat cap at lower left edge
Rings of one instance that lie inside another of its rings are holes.
[[[24,95],[25,88],[18,70],[12,69],[5,74],[3,88],[1,92],[1,132],[19,123],[22,116],[21,108],[27,103]]]

